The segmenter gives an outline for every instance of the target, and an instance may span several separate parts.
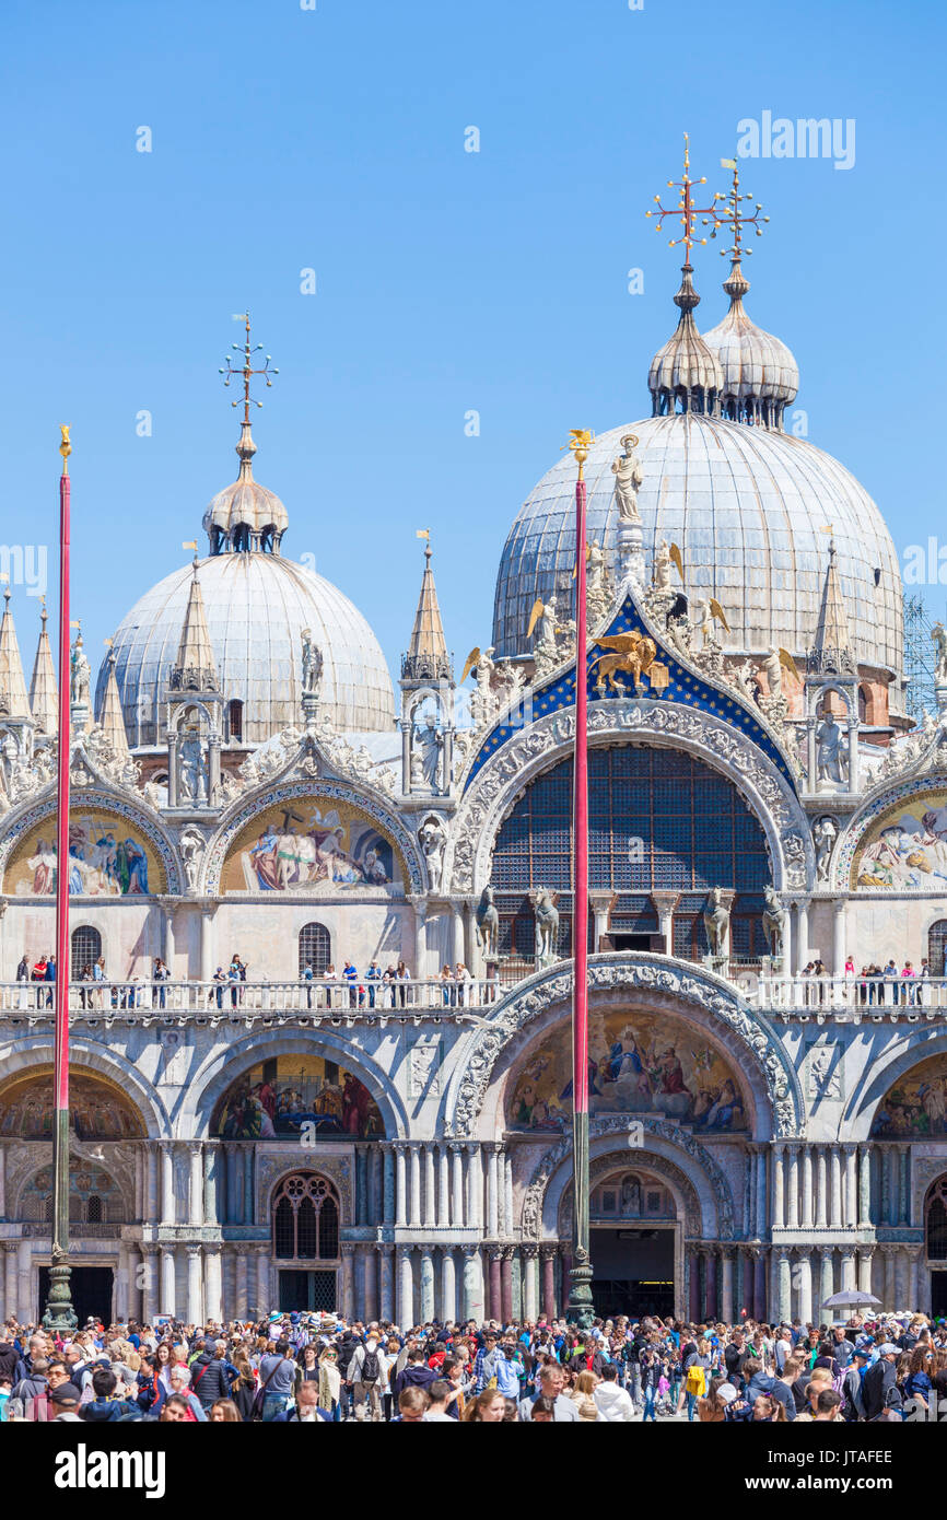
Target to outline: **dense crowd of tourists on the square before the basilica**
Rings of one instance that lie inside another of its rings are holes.
[[[90,1321],[67,1336],[9,1319],[0,1421],[792,1423],[932,1420],[947,1408],[947,1322],[523,1324]]]

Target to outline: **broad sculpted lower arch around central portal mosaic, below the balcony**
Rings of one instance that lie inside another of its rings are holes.
[[[714,1038],[737,1064],[754,1104],[754,1137],[769,1140],[801,1132],[803,1091],[783,1043],[769,1023],[728,982],[690,962],[637,952],[590,956],[590,1011],[664,1009]],[[450,1134],[493,1138],[505,1073],[534,1032],[561,1023],[572,997],[572,964],[559,962],[520,982],[491,1008],[489,1017],[458,1047],[444,1094],[441,1122]],[[637,1116],[635,1116],[637,1117]]]

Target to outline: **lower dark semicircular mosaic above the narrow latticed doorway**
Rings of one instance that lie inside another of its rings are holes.
[[[302,1126],[325,1138],[385,1135],[371,1093],[357,1076],[318,1055],[261,1061],[217,1102],[211,1134],[220,1140],[298,1140]]]

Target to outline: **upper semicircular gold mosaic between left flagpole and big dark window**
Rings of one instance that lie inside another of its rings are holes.
[[[337,798],[299,796],[258,813],[223,862],[225,892],[319,892],[401,886],[397,847]]]

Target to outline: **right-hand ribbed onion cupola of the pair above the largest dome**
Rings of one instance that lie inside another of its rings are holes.
[[[704,333],[704,344],[722,372],[721,413],[733,423],[781,427],[783,410],[800,389],[800,366],[781,339],[763,331],[746,315],[743,296],[749,280],[739,260],[733,261],[724,290],[730,296],[730,312]]]

